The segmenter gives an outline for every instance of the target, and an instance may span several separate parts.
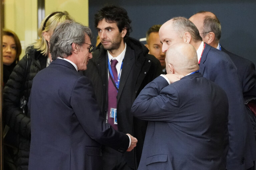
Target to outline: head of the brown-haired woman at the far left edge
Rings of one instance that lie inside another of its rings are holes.
[[[18,36],[11,30],[3,29],[3,78],[4,85],[19,61],[21,45]]]

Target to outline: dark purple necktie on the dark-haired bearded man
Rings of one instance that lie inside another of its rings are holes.
[[[116,64],[118,63],[117,60],[111,60],[110,61],[111,64],[111,70],[114,76],[114,80],[113,82],[117,82],[117,70],[115,68]],[[111,108],[116,108],[117,105],[117,90],[115,88],[115,85],[113,84],[113,82],[111,81],[111,75],[109,74],[109,78],[108,78],[108,110],[107,110],[107,116],[108,116],[108,123],[115,129],[118,130],[117,124],[114,124],[114,118],[110,117],[110,112],[111,112]]]

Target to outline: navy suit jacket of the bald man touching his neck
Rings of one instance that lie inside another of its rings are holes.
[[[225,170],[228,99],[200,73],[148,84],[132,113],[148,120],[138,170]]]

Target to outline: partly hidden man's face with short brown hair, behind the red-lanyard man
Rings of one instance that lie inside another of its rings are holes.
[[[162,52],[162,43],[159,38],[159,29],[162,25],[153,25],[149,28],[146,34],[147,44],[145,46],[149,49],[149,54],[155,56],[161,63],[163,74],[166,74],[165,68],[165,53]]]

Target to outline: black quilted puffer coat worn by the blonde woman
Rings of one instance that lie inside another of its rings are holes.
[[[18,62],[13,69],[8,82],[4,87],[4,107],[3,115],[6,124],[18,136],[19,153],[17,169],[28,169],[28,157],[30,148],[30,116],[25,108],[25,113],[20,109],[20,98],[24,95],[28,101],[32,80],[35,75],[46,67],[47,57],[40,51],[36,51],[32,46],[26,49],[29,54],[29,67],[27,76],[25,75],[27,66],[26,55]],[[23,87],[24,85],[24,87]]]

